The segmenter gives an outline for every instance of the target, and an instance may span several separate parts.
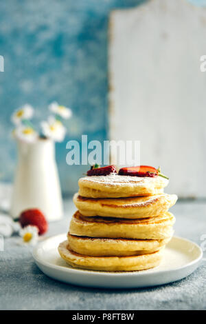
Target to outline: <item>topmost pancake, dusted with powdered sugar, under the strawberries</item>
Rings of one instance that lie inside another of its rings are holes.
[[[121,198],[160,194],[168,183],[168,179],[161,176],[141,178],[139,176],[120,176],[119,174],[84,176],[78,181],[80,196],[89,198]]]

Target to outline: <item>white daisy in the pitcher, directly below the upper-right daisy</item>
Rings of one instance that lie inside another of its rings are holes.
[[[52,116],[49,117],[48,121],[43,121],[41,123],[41,128],[46,137],[57,142],[63,141],[67,131],[64,125]]]

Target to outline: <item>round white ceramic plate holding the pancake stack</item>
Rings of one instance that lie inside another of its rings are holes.
[[[34,247],[36,265],[47,276],[75,285],[104,288],[135,288],[163,285],[185,278],[198,266],[203,252],[195,243],[174,236],[165,248],[163,261],[154,269],[135,272],[100,272],[70,267],[58,254],[66,234],[53,236]]]

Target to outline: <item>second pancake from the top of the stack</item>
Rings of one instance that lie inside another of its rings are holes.
[[[125,219],[154,217],[164,214],[177,200],[176,194],[156,194],[117,199],[92,199],[78,194],[73,202],[83,216],[104,216]]]

